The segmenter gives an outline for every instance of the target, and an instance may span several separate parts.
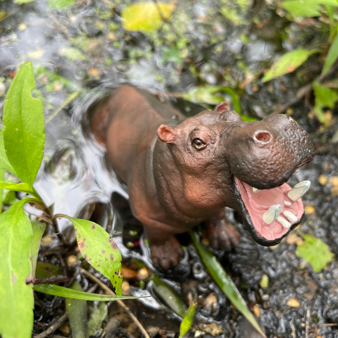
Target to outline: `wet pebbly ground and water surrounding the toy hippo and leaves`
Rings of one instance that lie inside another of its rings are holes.
[[[46,118],[46,151],[35,188],[46,204],[54,203],[54,213],[92,218],[106,227],[116,237],[123,264],[140,271],[133,258],[153,269],[147,247],[142,245],[142,228],[130,213],[125,186],[114,174],[104,149],[91,138],[87,108],[104,93],[128,83],[152,93],[171,93],[173,105],[192,115],[201,110],[200,105],[184,101],[180,94],[194,86],[217,84],[236,88],[243,114],[264,118],[294,98],[322,66],[320,56],[314,55],[296,72],[262,83],[260,75],[271,65],[271,59],[299,46],[323,44],[328,28],[319,20],[290,22],[272,1],[180,1],[172,19],[157,33],[127,32],[121,27],[120,15],[121,8],[130,3],[77,1],[56,10],[46,1],[21,6],[1,1],[0,110],[17,67],[25,60],[33,61],[37,81],[33,94],[42,99]],[[223,6],[236,10],[235,23],[220,14]],[[67,103],[72,94],[74,99]],[[231,96],[223,95],[232,102]],[[313,97],[307,101],[313,104]],[[314,161],[289,183],[311,181],[303,198],[307,214],[299,228],[321,238],[337,255],[338,191],[325,179],[320,184],[318,178],[338,176],[338,115],[332,111],[331,123],[323,127],[309,112],[304,100],[287,110],[310,133],[316,148]],[[338,337],[337,261],[315,273],[309,265],[302,267],[301,259],[295,256],[296,244],[301,241],[295,232],[276,247],[262,247],[236,223],[232,211],[227,212],[242,235],[241,244],[230,254],[215,254],[267,337]],[[64,234],[72,238],[68,225],[59,221]],[[44,240],[39,260],[58,266],[65,263],[68,276],[77,275],[69,261],[71,255],[78,254],[76,246],[71,245],[66,252],[53,238]],[[188,237],[179,239],[187,246],[185,259],[165,277],[186,305],[198,300],[195,329],[201,333],[197,331],[195,336],[204,332],[204,337],[254,337],[255,332],[206,273]],[[162,276],[161,271],[158,273]],[[262,289],[264,274],[269,286]],[[92,286],[83,275],[77,279],[84,290]],[[153,295],[142,303],[128,303],[151,337],[174,337],[179,318],[154,291],[153,283],[130,280],[129,285],[130,294]],[[294,306],[290,306],[290,297],[295,298]],[[64,301],[41,294],[35,300],[37,334],[63,313]],[[106,337],[137,338],[140,332],[118,311],[110,305],[109,317],[117,318],[120,324],[110,320]],[[67,325],[63,328],[56,333],[69,336]]]

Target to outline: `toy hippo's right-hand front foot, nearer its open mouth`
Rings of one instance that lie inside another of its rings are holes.
[[[239,245],[240,235],[235,227],[227,220],[224,208],[211,215],[206,220],[207,233],[212,248],[231,251]]]

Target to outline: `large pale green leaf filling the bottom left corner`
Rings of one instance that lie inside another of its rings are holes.
[[[3,338],[27,338],[33,328],[34,297],[30,275],[32,226],[23,211],[25,198],[0,215],[0,334]]]

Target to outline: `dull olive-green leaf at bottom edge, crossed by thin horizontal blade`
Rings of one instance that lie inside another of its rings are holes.
[[[74,281],[70,289],[83,292],[81,285]],[[89,338],[87,300],[66,298],[66,310],[72,328],[72,338]]]

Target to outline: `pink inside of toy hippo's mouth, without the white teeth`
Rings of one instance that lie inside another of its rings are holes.
[[[237,177],[235,177],[235,180],[237,189],[241,194],[246,210],[249,213],[252,223],[255,226],[256,233],[259,237],[264,237],[267,240],[274,240],[276,238],[282,237],[289,231],[288,228],[283,227],[282,223],[278,222],[277,220],[270,224],[266,224],[263,221],[263,214],[268,211],[272,204],[281,204],[282,211],[280,217],[285,218],[291,224],[291,226],[297,222],[289,221],[283,215],[284,211],[290,211],[297,217],[299,222],[301,216],[304,213],[303,202],[301,201],[301,198],[293,201],[288,197],[288,192],[291,190],[291,187],[287,183],[284,183],[277,188],[263,189],[254,193],[251,186],[242,182]],[[287,206],[284,204],[284,201],[291,202],[291,205]]]

